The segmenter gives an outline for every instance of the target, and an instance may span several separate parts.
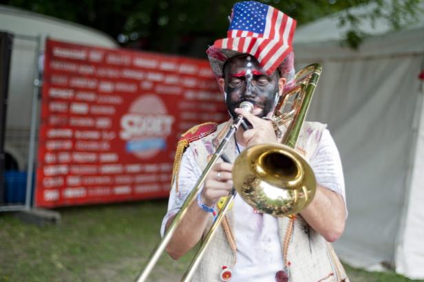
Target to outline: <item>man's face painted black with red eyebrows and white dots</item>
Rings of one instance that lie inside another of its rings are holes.
[[[254,105],[253,114],[263,118],[279,98],[279,76],[277,72],[268,76],[253,56],[235,56],[224,65],[224,91],[231,116],[237,116],[234,109],[248,101]]]

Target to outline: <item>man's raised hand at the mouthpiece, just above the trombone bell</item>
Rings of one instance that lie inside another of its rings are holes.
[[[240,143],[249,147],[255,144],[278,142],[273,123],[270,120],[258,118],[254,115],[255,111],[253,111],[253,113],[249,113],[244,109],[237,108],[235,109],[235,112],[244,116],[244,118],[253,125],[253,129],[244,131],[242,135],[243,140],[239,140],[239,142],[241,141]],[[270,114],[272,115],[272,113]]]

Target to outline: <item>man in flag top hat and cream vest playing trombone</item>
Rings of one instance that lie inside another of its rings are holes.
[[[206,51],[231,115],[223,124],[206,123],[179,142],[173,186],[162,234],[169,227],[233,120],[239,128],[224,149],[230,162],[218,162],[206,176],[167,252],[178,259],[209,230],[233,189],[233,161],[245,148],[280,143],[285,124],[273,122],[279,98],[293,87],[292,39],[296,22],[255,1],[236,3],[228,38]],[[240,109],[250,102],[251,111]],[[206,249],[193,281],[347,281],[330,243],[343,232],[347,216],[339,153],[325,124],[304,122],[295,150],[308,161],[317,180],[315,197],[295,216],[274,217],[236,195]],[[184,153],[183,153],[184,152]]]

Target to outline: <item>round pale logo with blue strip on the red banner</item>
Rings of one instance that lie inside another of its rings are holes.
[[[138,98],[120,119],[120,138],[127,141],[126,151],[142,160],[152,158],[167,147],[174,120],[159,96],[148,94]]]

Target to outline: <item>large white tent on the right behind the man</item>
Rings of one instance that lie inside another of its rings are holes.
[[[398,32],[361,28],[372,36],[359,50],[342,46],[337,15],[295,34],[297,65],[323,66],[308,120],[328,124],[343,162],[349,215],[335,248],[350,265],[424,279],[424,14]]]

